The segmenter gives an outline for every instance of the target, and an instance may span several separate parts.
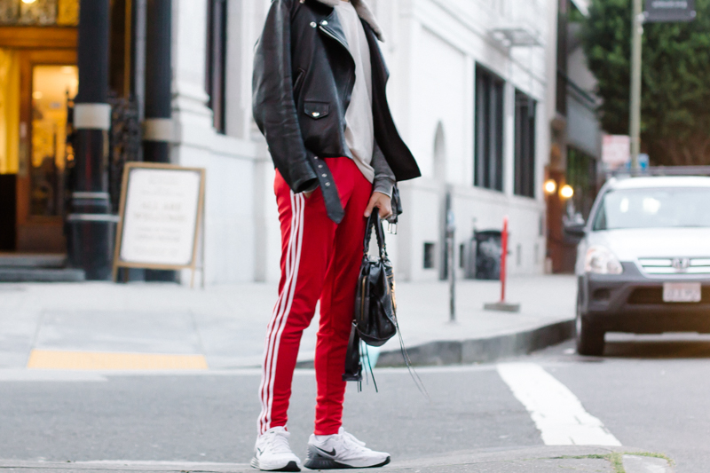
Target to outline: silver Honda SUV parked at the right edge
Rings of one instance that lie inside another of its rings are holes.
[[[580,240],[577,351],[604,334],[710,333],[710,177],[612,177]]]

